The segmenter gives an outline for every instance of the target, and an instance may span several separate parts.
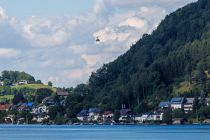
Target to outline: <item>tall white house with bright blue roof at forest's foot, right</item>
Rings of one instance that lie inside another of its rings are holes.
[[[183,105],[184,105],[184,97],[174,97],[171,99],[171,109],[172,111],[175,109],[183,109]]]

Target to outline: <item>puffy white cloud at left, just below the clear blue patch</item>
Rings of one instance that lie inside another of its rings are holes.
[[[40,17],[30,18],[23,23],[23,37],[34,47],[51,47],[65,44],[70,34],[56,20]]]

